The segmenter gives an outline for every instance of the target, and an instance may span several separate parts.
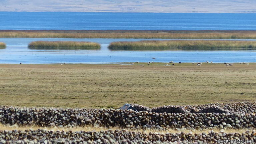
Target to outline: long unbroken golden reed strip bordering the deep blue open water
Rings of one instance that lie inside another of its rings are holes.
[[[5,38],[256,39],[256,31],[1,30]]]

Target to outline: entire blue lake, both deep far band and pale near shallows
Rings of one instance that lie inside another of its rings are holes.
[[[0,12],[0,30],[256,30],[256,14]],[[36,40],[93,41],[100,50],[31,50]],[[109,51],[113,41],[143,39],[0,38],[0,63],[256,62],[255,51]],[[150,39],[147,39],[150,40]]]

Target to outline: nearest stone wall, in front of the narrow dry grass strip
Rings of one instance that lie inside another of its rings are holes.
[[[216,143],[217,140],[256,140],[255,132],[244,133],[216,133],[193,134],[189,133],[141,133],[127,130],[108,130],[100,132],[85,131],[48,131],[48,130],[25,130],[25,131],[0,131],[0,143],[85,143],[85,144],[162,144],[162,143]]]

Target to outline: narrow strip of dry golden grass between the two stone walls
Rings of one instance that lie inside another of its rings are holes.
[[[17,126],[17,125],[13,125],[13,126],[7,126],[7,125],[2,125],[0,124],[0,130],[21,130],[21,131],[25,131],[25,130],[38,130],[38,129],[45,129],[45,130],[53,130],[53,131],[73,131],[73,132],[77,132],[77,131],[107,131],[107,130],[123,130],[120,127],[93,127],[93,126],[80,126],[80,127],[69,127],[69,128],[60,128],[60,127],[41,127],[41,126]],[[135,129],[135,130],[131,130],[131,129],[126,129],[129,131],[133,131],[133,132],[141,132],[141,133],[146,133],[149,134],[150,132],[154,133],[161,133],[161,134],[165,134],[165,133],[180,133],[180,132],[184,132],[184,133],[189,133],[190,131],[193,134],[201,134],[203,132],[208,133],[209,131],[211,131],[211,129],[203,129],[203,130],[199,130],[199,129],[181,129],[181,130],[175,130],[175,129],[168,129],[168,130],[159,130],[159,129]],[[219,128],[213,128],[212,130],[214,130],[214,132],[220,132],[221,129]],[[249,129],[226,129],[224,130],[225,133],[244,133],[247,130],[249,131],[253,131],[255,130],[254,128],[249,128]]]

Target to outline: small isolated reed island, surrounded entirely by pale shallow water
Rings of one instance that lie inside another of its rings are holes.
[[[95,42],[77,41],[34,41],[28,45],[30,49],[100,49],[100,44]]]

